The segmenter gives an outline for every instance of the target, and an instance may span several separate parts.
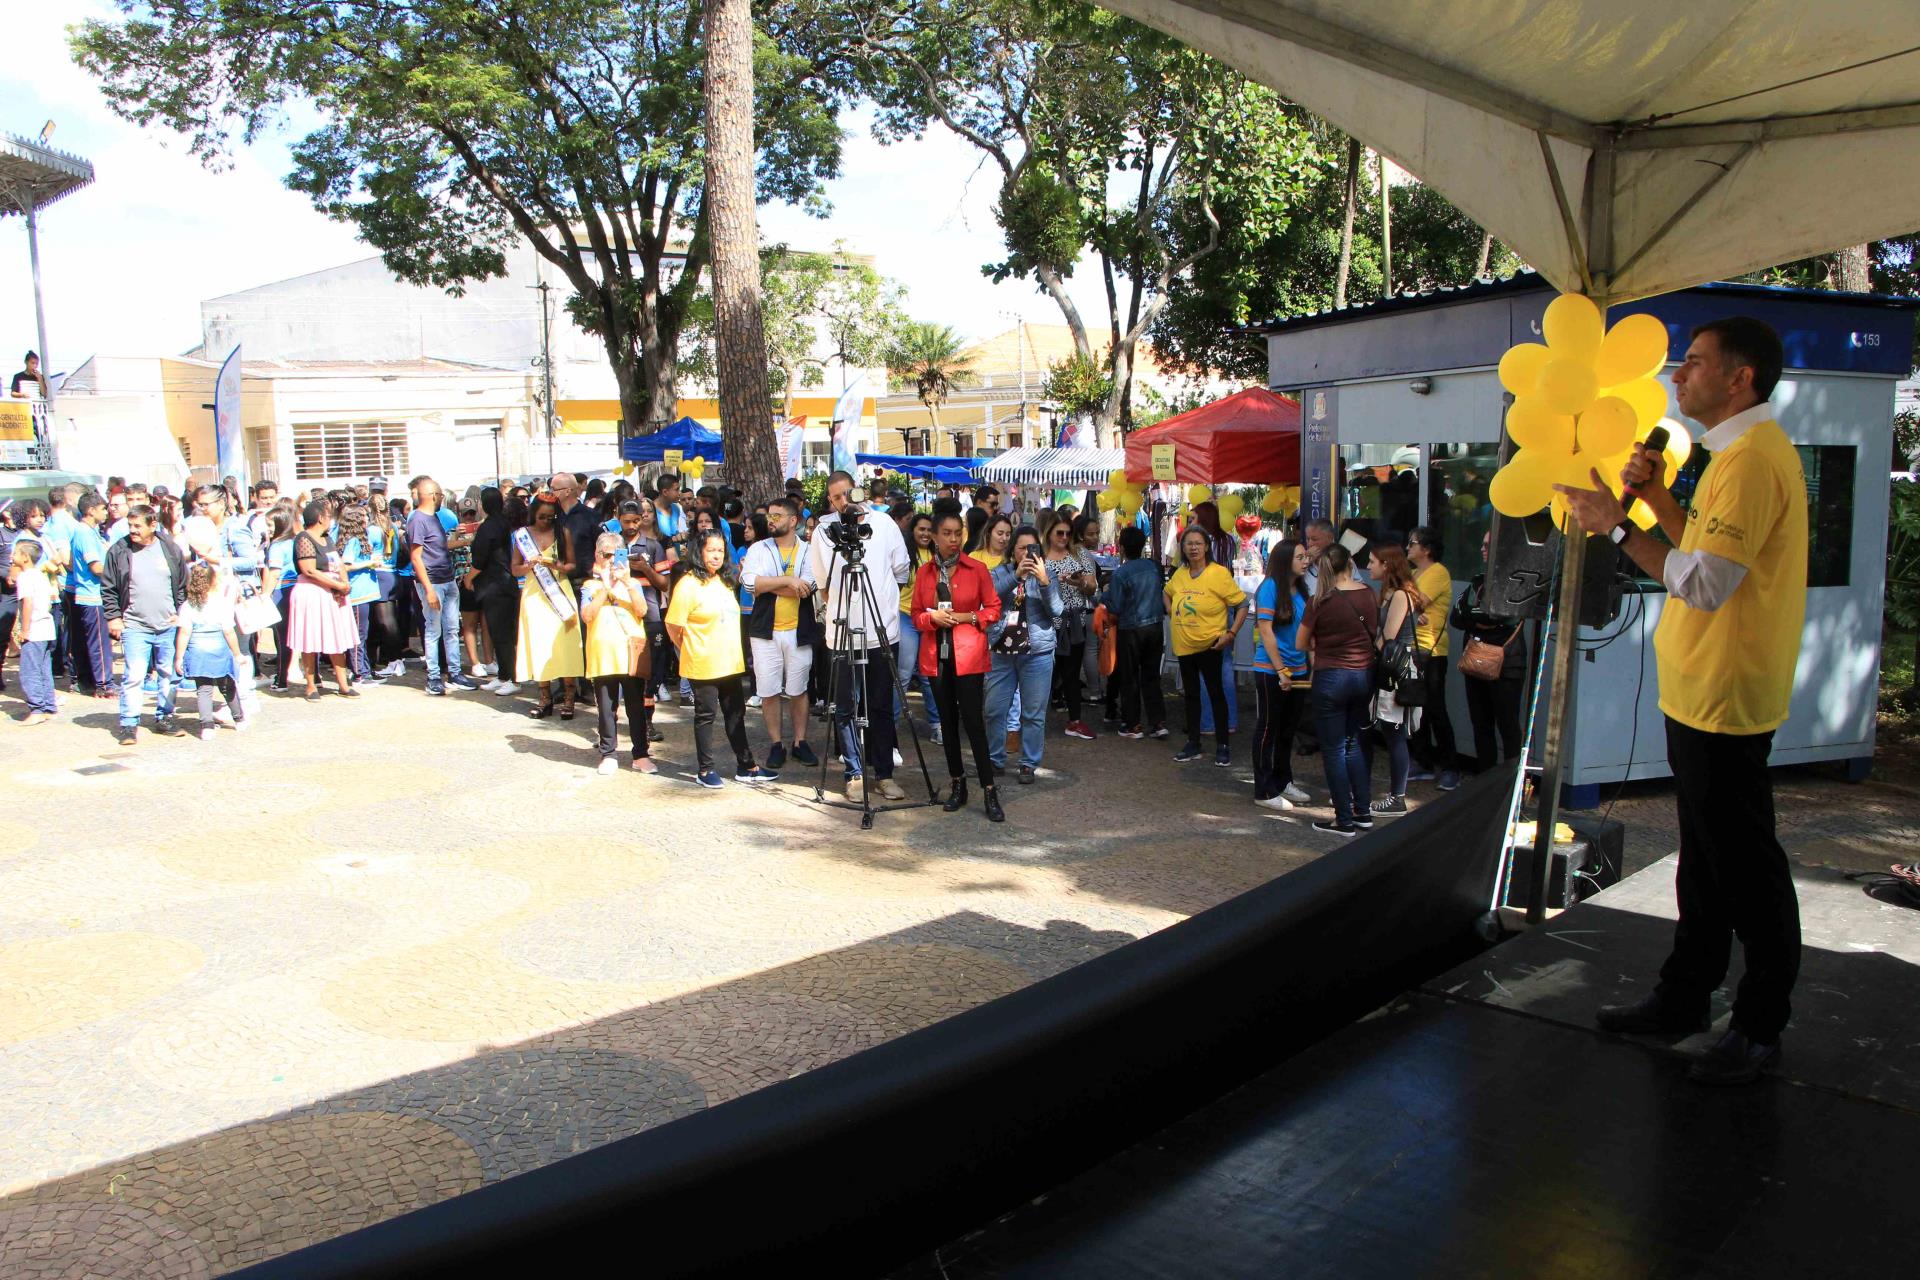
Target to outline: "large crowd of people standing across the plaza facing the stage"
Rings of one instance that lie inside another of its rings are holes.
[[[71,697],[117,700],[123,747],[142,727],[184,735],[182,687],[202,737],[217,739],[257,722],[261,687],[355,699],[417,660],[428,697],[524,697],[540,720],[589,702],[603,773],[620,770],[622,712],[628,768],[657,773],[655,710],[678,700],[701,787],[726,785],[718,729],[733,781],[826,756],[866,804],[906,798],[893,771],[918,691],[945,752],[945,808],[970,804],[972,773],[985,816],[1002,821],[998,783],[1039,777],[1050,714],[1083,741],[1171,737],[1167,647],[1183,691],[1173,762],[1208,758],[1212,735],[1212,762],[1233,766],[1233,651],[1248,626],[1260,806],[1313,804],[1294,760],[1319,752],[1332,816],[1313,825],[1352,835],[1405,812],[1411,781],[1452,789],[1463,768],[1521,747],[1526,639],[1476,608],[1478,578],[1453,604],[1428,528],[1356,555],[1327,522],[1267,528],[1248,514],[1223,530],[1200,503],[1164,572],[1142,528],[1104,545],[1100,518],[1069,505],[1020,522],[995,486],[943,489],[924,510],[904,493],[870,503],[835,472],[812,510],[799,482],[749,507],[733,489],[687,491],[674,472],[645,489],[561,472],[455,503],[430,476],[405,497],[384,478],[305,493],[261,482],[244,497],[215,484],[63,486],[13,503],[0,539],[0,687],[17,639],[21,723],[52,720],[65,681]],[[1482,649],[1475,670],[1461,664],[1471,754],[1446,712],[1450,629]],[[1382,654],[1402,649],[1423,699],[1380,687]],[[749,710],[766,727],[758,758]]]

